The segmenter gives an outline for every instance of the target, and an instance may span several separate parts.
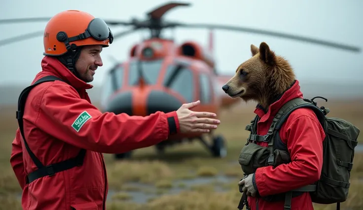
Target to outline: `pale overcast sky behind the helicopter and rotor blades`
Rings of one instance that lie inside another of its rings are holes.
[[[144,18],[145,13],[167,0],[3,0],[0,19],[51,17],[67,10],[87,11],[95,17],[129,20]],[[363,0],[191,0],[190,7],[175,8],[165,18],[190,23],[228,24],[273,30],[296,35],[337,41],[363,49]],[[227,3],[228,2],[228,3]],[[44,30],[44,23],[2,24],[0,39]],[[110,27],[115,34],[127,27]],[[91,84],[100,84],[104,73],[112,67],[114,57],[127,59],[133,44],[144,33],[117,39],[102,52],[104,66]],[[169,30],[166,35],[172,35]],[[207,44],[208,31],[177,29],[176,41],[196,40]],[[267,35],[228,31],[215,32],[215,56],[219,72],[233,74],[236,67],[251,56],[250,45],[265,41],[277,54],[287,58],[298,79],[323,79],[351,83],[363,80],[363,53],[352,53],[309,43]],[[40,70],[43,58],[42,35],[0,47],[0,83],[30,83]],[[16,77],[18,73],[21,76]]]

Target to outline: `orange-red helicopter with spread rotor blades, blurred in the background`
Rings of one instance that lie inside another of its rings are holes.
[[[298,35],[251,29],[239,26],[216,24],[186,24],[163,20],[163,16],[175,7],[190,6],[185,2],[168,2],[146,13],[147,19],[131,21],[105,20],[109,26],[132,26],[113,35],[114,40],[129,35],[140,29],[148,29],[150,36],[129,50],[128,60],[114,64],[103,81],[101,110],[115,114],[146,116],[156,111],[170,112],[182,104],[200,100],[195,111],[218,113],[239,102],[222,91],[222,86],[233,75],[221,75],[216,69],[213,57],[213,30],[230,30],[288,38],[319,44],[332,48],[360,52],[359,47],[328,42]],[[50,18],[19,18],[0,20],[1,23],[48,21]],[[161,35],[163,29],[204,28],[210,30],[209,46],[203,47],[195,41],[175,43],[173,38]],[[38,35],[44,31],[0,40],[0,46],[14,40],[22,40]],[[177,134],[155,145],[157,152],[164,152],[167,146],[186,141],[200,140],[214,157],[226,156],[226,140],[213,132],[207,136],[199,133]],[[114,154],[116,159],[130,158],[133,151]]]

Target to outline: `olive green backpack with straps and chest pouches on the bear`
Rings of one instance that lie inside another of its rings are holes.
[[[256,135],[256,127],[259,120],[257,115],[251,121],[251,125],[246,126],[246,130],[251,131],[251,134],[239,157],[239,163],[245,175],[254,173],[259,167],[276,167],[282,163],[290,162],[290,154],[287,145],[280,139],[279,129],[293,110],[301,107],[313,109],[323,126],[326,138],[323,141],[323,168],[320,179],[316,183],[299,189],[262,197],[262,199],[267,201],[285,199],[284,210],[290,210],[291,198],[301,195],[303,192],[310,192],[312,202],[317,204],[337,203],[337,210],[340,209],[340,203],[346,201],[348,197],[354,148],[358,144],[357,138],[360,130],[344,119],[327,117],[329,109],[324,106],[319,108],[317,103],[314,102],[315,98],[311,100],[295,98],[283,105],[274,116],[270,129],[265,136]],[[327,101],[327,99],[325,100]],[[266,141],[268,142],[268,147],[261,147],[254,143],[256,141]],[[246,202],[247,198],[245,196],[244,204]]]

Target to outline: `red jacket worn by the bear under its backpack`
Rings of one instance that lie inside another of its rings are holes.
[[[269,106],[267,112],[257,106],[254,110],[254,113],[260,117],[257,135],[266,135],[274,115],[286,102],[297,97],[302,98],[302,93],[296,80],[278,101]],[[325,133],[314,111],[309,108],[298,108],[291,112],[281,127],[280,138],[287,144],[291,163],[276,168],[267,166],[256,170],[254,186],[257,186],[258,193],[262,197],[312,184],[320,178]],[[267,142],[257,143],[268,146]],[[285,201],[271,203],[262,198],[249,197],[248,203],[251,210],[283,210]],[[309,192],[292,198],[291,210],[314,210]]]

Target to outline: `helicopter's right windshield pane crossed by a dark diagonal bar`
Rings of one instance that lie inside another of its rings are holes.
[[[175,65],[170,65],[168,70],[166,71],[164,77],[164,85],[167,84],[168,80],[170,80],[171,76],[174,74],[177,67]],[[186,100],[186,103],[190,103],[193,101],[193,73],[191,70],[187,68],[182,68],[179,70],[173,81],[170,83],[170,89],[178,92],[182,97]]]

